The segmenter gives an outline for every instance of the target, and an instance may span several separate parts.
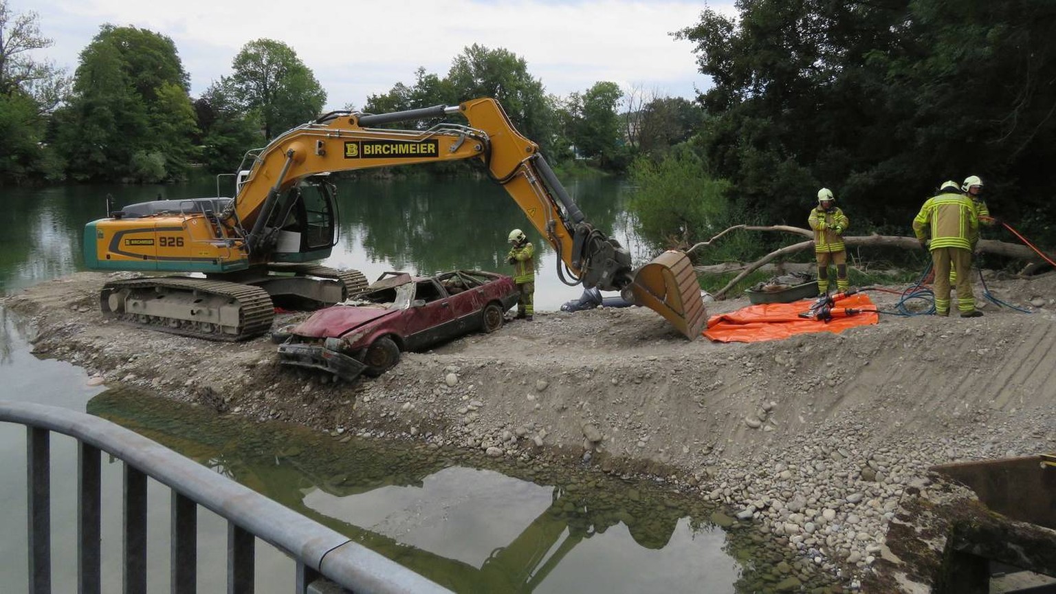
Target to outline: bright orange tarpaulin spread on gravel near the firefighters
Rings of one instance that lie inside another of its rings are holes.
[[[876,305],[864,293],[837,299],[832,305],[832,317],[828,321],[799,317],[812,304],[813,299],[803,299],[792,303],[749,305],[729,314],[712,316],[703,334],[719,342],[759,342],[780,340],[793,334],[808,332],[840,333],[848,328],[880,321]],[[866,311],[848,315],[848,308]]]

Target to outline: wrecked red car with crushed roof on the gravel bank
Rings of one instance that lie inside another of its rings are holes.
[[[365,292],[281,333],[279,360],[347,380],[361,373],[376,377],[399,361],[401,351],[498,330],[516,300],[513,279],[506,275],[385,273]]]

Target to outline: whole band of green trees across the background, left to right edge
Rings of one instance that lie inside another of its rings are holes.
[[[945,180],[980,175],[991,211],[1056,238],[1056,2],[738,0],[675,34],[713,86],[695,101],[598,81],[559,97],[526,61],[469,45],[364,106],[498,99],[554,165],[627,172],[643,236],[706,239],[731,222],[803,225],[828,187],[852,229],[904,233]],[[0,183],[178,180],[318,117],[326,93],[280,41],[246,43],[202,96],[165,35],[105,24],[72,76],[0,0]],[[428,126],[431,123],[421,123]]]

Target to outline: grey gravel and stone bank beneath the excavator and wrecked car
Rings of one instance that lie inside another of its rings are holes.
[[[107,278],[76,274],[3,305],[31,319],[38,354],[93,382],[335,437],[647,472],[753,518],[847,587],[900,571],[887,527],[900,502],[935,486],[928,467],[1056,449],[1052,273],[987,277],[1031,314],[882,316],[842,335],[754,345],[687,342],[637,308],[542,313],[407,354],[356,385],[280,368],[266,339],[213,344],[107,322],[96,296]],[[898,299],[871,295],[882,309]],[[709,303],[712,314],[744,304]]]

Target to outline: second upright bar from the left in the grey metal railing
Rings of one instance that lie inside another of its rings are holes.
[[[99,594],[101,496],[99,448],[77,443],[77,592]]]

